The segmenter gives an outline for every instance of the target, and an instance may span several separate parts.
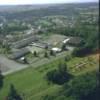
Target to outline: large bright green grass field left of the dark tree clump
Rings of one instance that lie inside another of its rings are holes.
[[[56,62],[58,63],[58,61]],[[49,64],[49,66],[52,64]],[[45,67],[44,65],[41,67]],[[45,70],[45,69],[43,69]],[[9,85],[12,83],[16,89],[25,95],[25,100],[31,100],[30,98],[36,98],[43,94],[56,91],[58,85],[48,85],[45,79],[45,73],[47,71],[40,71],[40,69],[34,69],[33,67],[25,69],[20,72],[8,75],[4,80],[4,87],[0,91],[0,100],[4,100],[9,90]],[[38,96],[39,95],[39,96]],[[35,97],[34,97],[35,96]],[[36,99],[40,100],[40,99]]]

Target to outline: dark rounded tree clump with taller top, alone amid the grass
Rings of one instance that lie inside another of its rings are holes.
[[[67,71],[67,65],[65,63],[60,63],[58,69],[49,71],[46,74],[46,78],[52,83],[61,85],[67,82],[71,78],[71,75]]]

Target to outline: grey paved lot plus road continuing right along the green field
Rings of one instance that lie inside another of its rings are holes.
[[[69,54],[69,52],[68,52]],[[3,75],[11,74],[20,70],[23,70],[29,66],[32,66],[34,68],[39,67],[43,64],[50,63],[54,60],[57,60],[59,58],[63,58],[66,56],[66,52],[59,53],[56,57],[50,57],[50,58],[44,58],[44,59],[38,59],[35,62],[27,64],[21,64],[14,60],[8,59],[5,55],[0,54],[0,69],[3,73]]]

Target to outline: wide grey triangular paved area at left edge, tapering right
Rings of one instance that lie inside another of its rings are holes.
[[[0,55],[0,70],[4,75],[19,71],[28,67],[28,65],[17,63],[13,60],[8,59],[4,55]]]

